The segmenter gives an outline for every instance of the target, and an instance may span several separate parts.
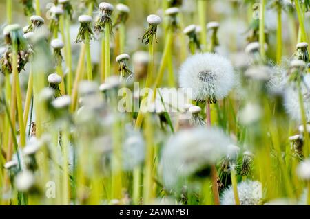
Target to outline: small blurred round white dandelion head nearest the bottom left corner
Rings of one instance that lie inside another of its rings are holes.
[[[19,172],[14,178],[14,183],[17,190],[27,192],[34,185],[34,175],[29,170]]]

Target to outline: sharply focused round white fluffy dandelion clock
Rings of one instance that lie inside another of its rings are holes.
[[[196,54],[180,68],[180,87],[192,89],[192,100],[214,103],[228,95],[235,81],[231,62],[218,54]]]

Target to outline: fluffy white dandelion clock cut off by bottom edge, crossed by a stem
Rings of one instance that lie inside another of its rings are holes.
[[[237,185],[240,205],[261,205],[262,184],[258,181],[242,181]],[[221,205],[236,205],[234,190],[229,187],[223,191],[220,198]]]

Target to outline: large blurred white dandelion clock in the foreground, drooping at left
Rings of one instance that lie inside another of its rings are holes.
[[[192,176],[225,157],[231,140],[217,128],[197,127],[177,132],[163,149],[161,164],[167,187]]]

